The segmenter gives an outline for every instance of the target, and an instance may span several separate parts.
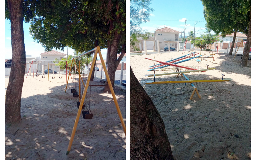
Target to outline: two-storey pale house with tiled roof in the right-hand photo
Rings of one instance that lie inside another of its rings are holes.
[[[177,49],[178,48],[178,40],[179,34],[181,32],[176,31],[174,29],[165,27],[161,29],[156,29],[156,44],[159,40],[159,46],[163,49],[165,46],[168,46],[168,42],[170,42],[170,47]],[[148,44],[147,44],[148,47]],[[156,48],[158,46],[156,45]]]

